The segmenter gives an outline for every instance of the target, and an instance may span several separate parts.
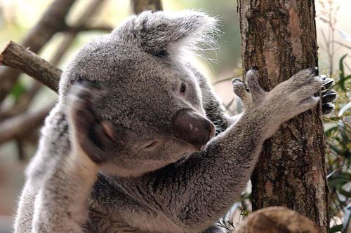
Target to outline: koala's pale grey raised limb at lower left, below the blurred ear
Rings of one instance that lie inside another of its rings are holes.
[[[65,159],[37,193],[32,232],[83,232],[98,165],[82,150]]]

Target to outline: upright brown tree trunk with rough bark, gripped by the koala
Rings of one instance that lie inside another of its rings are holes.
[[[317,66],[314,1],[238,0],[238,11],[243,68],[258,66],[266,91]],[[324,149],[321,106],[284,123],[265,141],[253,173],[253,209],[286,206],[328,232]]]

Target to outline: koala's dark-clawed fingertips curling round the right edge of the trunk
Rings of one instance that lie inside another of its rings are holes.
[[[323,81],[322,86],[322,112],[324,115],[331,113],[335,105],[332,104],[338,98],[338,93],[335,90],[331,90],[331,87],[335,85],[335,82],[332,78],[327,78],[325,75],[319,75],[317,78],[320,78]]]

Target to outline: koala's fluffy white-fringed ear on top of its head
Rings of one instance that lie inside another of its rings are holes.
[[[215,18],[192,10],[145,11],[135,18],[133,30],[144,50],[154,55],[196,50],[196,45],[211,44],[216,32]]]

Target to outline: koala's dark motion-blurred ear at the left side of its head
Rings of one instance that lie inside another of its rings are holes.
[[[67,116],[73,148],[83,150],[97,164],[107,160],[115,141],[112,123],[100,122],[93,112],[92,99],[101,93],[102,90],[97,85],[82,81],[72,85],[67,97]]]

